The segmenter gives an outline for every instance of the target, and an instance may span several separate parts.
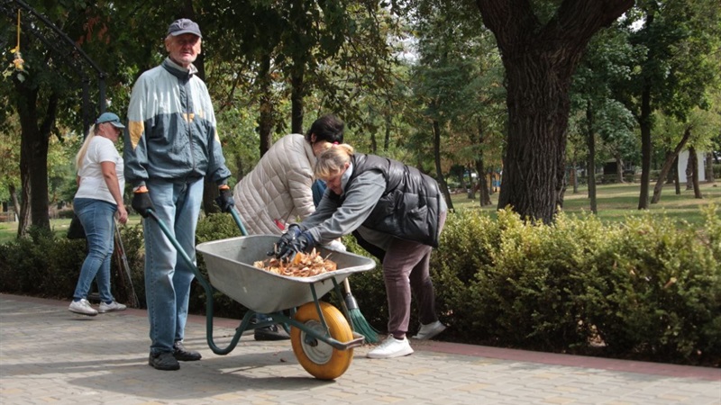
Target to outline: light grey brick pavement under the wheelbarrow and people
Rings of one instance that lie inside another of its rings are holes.
[[[446,342],[412,342],[415,354],[371,360],[319,381],[289,341],[243,336],[227,356],[191,316],[186,347],[203,360],[177,372],[148,365],[144,311],[68,311],[68,302],[0,294],[0,403],[11,404],[721,404],[721,369],[552,355]],[[225,347],[238,320],[214,320]]]

